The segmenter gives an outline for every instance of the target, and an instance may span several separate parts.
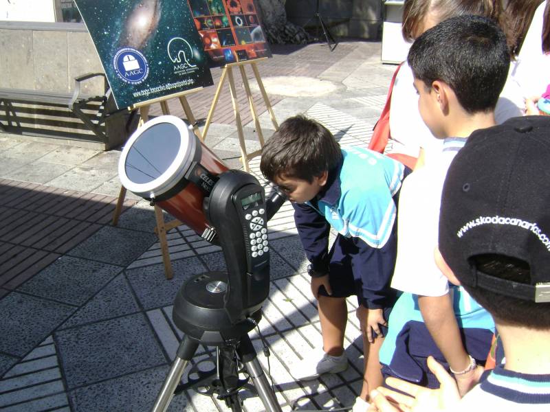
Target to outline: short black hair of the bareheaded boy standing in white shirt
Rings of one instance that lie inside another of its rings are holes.
[[[468,113],[493,111],[506,82],[510,54],[498,25],[482,16],[458,16],[424,32],[410,47],[408,63],[431,89],[441,80]]]

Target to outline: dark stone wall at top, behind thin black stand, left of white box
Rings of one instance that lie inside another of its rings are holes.
[[[287,1],[285,8],[292,23],[307,27],[317,24],[316,0]],[[382,0],[319,0],[319,12],[335,36],[381,38]]]

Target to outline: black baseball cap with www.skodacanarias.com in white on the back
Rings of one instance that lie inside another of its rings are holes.
[[[476,130],[448,170],[439,250],[462,284],[550,302],[550,117],[514,117]],[[497,254],[529,265],[522,284],[478,271]]]

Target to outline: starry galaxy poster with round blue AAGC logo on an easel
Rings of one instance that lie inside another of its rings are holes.
[[[197,21],[184,1],[75,3],[119,108],[213,84]],[[208,6],[202,11],[208,15]],[[214,28],[213,21],[199,23]]]

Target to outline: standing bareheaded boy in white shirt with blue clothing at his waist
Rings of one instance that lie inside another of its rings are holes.
[[[437,161],[404,181],[399,200],[397,262],[391,286],[404,293],[388,320],[380,350],[384,376],[426,387],[439,382],[428,355],[454,373],[461,393],[478,380],[494,323],[468,293],[449,287],[434,264],[441,189],[452,158],[474,130],[494,126],[494,108],[509,69],[506,38],[481,16],[448,19],[424,32],[408,62],[419,93],[419,111],[443,141]]]

